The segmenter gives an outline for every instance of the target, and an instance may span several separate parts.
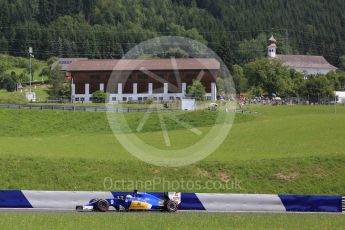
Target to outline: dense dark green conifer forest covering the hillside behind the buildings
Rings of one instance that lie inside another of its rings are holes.
[[[345,54],[343,0],[0,0],[0,52],[35,57],[119,58],[162,35],[207,44],[232,66],[265,54]],[[261,38],[261,39],[260,39]]]

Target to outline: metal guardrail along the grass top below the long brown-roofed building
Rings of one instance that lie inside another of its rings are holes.
[[[96,107],[96,106],[62,106],[62,105],[16,105],[0,104],[0,108],[21,110],[57,110],[57,111],[80,111],[80,112],[157,112],[156,108],[125,108],[125,107]]]

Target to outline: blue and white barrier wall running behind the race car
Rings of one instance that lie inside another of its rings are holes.
[[[0,190],[0,208],[75,209],[92,198],[129,192],[65,192]],[[152,193],[162,196],[163,193]],[[182,193],[180,210],[221,212],[342,212],[342,196]]]

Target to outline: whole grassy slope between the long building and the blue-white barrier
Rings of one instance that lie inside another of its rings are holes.
[[[200,183],[179,188],[181,191],[345,193],[345,107],[338,107],[337,114],[328,106],[251,109],[258,113],[238,114],[231,133],[216,152],[182,168],[155,167],[138,161],[112,135],[103,113],[3,109],[1,189],[132,190],[133,181],[158,178]],[[128,114],[127,119],[135,124],[142,115]],[[184,115],[184,119],[206,133],[212,116],[214,113],[202,112]],[[162,133],[154,128],[155,120],[153,117],[139,136],[163,147]],[[197,140],[179,126],[168,127],[175,148]],[[106,177],[123,179],[125,185],[105,187]],[[207,187],[209,181],[219,186]],[[231,186],[236,181],[239,186]],[[166,186],[136,187],[169,190]]]

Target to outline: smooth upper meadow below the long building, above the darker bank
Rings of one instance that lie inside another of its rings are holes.
[[[257,160],[344,153],[344,106],[338,106],[337,114],[330,106],[269,106],[251,109],[258,111],[258,114],[237,114],[227,140],[209,160]],[[139,125],[142,116],[142,113],[126,114],[133,130]],[[215,116],[215,113],[209,112],[178,115],[182,121],[202,127],[205,132],[214,123]],[[26,155],[25,151],[29,151],[38,156],[43,153],[69,156],[64,151],[57,154],[68,146],[73,156],[83,157],[92,156],[92,146],[95,146],[105,158],[113,155],[112,149],[125,154],[112,135],[105,113],[4,109],[0,110],[0,118],[2,153]],[[193,138],[173,121],[166,119],[166,123],[172,137],[183,138],[187,135]],[[163,144],[160,129],[157,116],[152,115],[138,135],[147,141],[155,140],[160,145]],[[188,138],[185,140],[187,143]],[[17,145],[16,142],[23,144]],[[54,143],[56,146],[51,148]],[[94,143],[109,143],[112,147]],[[179,143],[176,144],[178,146]],[[78,151],[79,145],[85,146],[86,150]],[[113,158],[116,160],[117,156]]]

